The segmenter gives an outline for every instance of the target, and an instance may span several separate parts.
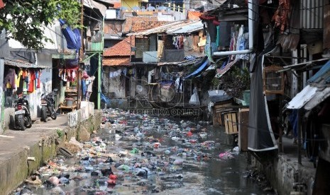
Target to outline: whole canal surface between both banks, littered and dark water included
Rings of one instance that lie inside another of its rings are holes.
[[[274,194],[231,139],[200,122],[104,110],[90,141],[70,140],[74,156],[58,155],[13,194]]]

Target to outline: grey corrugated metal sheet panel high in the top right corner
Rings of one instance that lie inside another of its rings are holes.
[[[300,26],[304,29],[323,28],[323,0],[300,1]]]

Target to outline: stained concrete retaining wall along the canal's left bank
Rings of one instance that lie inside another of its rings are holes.
[[[61,119],[57,119],[42,124],[42,127],[39,126],[39,129],[50,129],[45,130],[43,134],[35,133],[33,135],[33,131],[38,131],[37,125],[26,131],[13,132],[13,134],[23,132],[27,135],[26,138],[21,138],[22,142],[16,143],[22,145],[18,150],[7,153],[0,152],[0,194],[10,194],[28,175],[38,170],[43,162],[54,158],[57,155],[57,148],[63,146],[65,141],[69,141],[71,137],[77,138],[78,141],[86,140],[89,139],[92,131],[99,129],[101,112],[94,110],[94,104],[91,102],[84,104],[82,109],[70,112],[66,118],[62,119],[62,123],[67,125],[60,126],[57,123],[60,123]],[[40,138],[35,138],[39,136]],[[26,139],[32,141],[26,142]],[[23,140],[28,144],[23,143]],[[2,144],[0,145],[2,146]],[[4,149],[0,149],[0,151],[4,151]],[[28,160],[28,157],[35,158],[35,161]]]

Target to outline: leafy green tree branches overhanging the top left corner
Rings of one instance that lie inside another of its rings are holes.
[[[67,25],[79,26],[80,6],[77,0],[4,0],[0,9],[0,30],[6,29],[13,38],[29,49],[40,50],[45,37],[45,26],[60,18]]]

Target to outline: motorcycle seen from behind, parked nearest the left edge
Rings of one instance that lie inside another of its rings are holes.
[[[31,128],[31,112],[26,95],[17,98],[13,103],[15,105],[15,129],[25,131],[26,128]]]

